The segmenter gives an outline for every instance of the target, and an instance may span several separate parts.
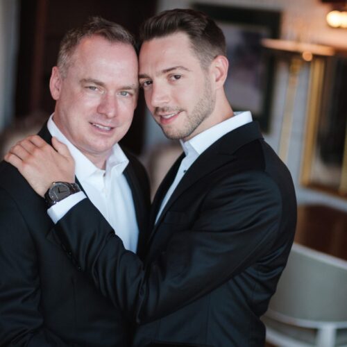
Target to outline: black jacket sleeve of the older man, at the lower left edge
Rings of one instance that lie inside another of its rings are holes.
[[[44,328],[39,268],[31,232],[0,188],[0,346],[68,346]]]

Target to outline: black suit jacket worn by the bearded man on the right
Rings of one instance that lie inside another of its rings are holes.
[[[96,287],[139,323],[133,346],[262,346],[260,316],[296,226],[289,171],[257,123],[246,124],[198,157],[153,226],[182,158],[155,196],[144,263],[87,200],[60,220],[58,237]]]

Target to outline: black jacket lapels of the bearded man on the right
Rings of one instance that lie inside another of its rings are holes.
[[[214,142],[214,144],[199,155],[198,159],[196,159],[192,166],[189,167],[185,173],[185,176],[183,176],[182,180],[180,180],[180,183],[178,183],[178,186],[169,198],[169,201],[167,201],[164,210],[162,210],[162,214],[160,214],[158,222],[154,225],[156,212],[158,212],[162,198],[164,198],[164,194],[167,192],[167,189],[169,189],[171,183],[173,182],[180,162],[183,159],[183,157],[180,158],[179,162],[176,162],[174,167],[170,169],[169,173],[164,178],[162,185],[160,185],[159,189],[162,189],[162,191],[159,191],[158,189],[158,201],[155,201],[155,205],[153,205],[153,212],[155,212],[155,216],[152,216],[151,218],[151,226],[153,226],[153,230],[150,239],[154,236],[155,231],[157,230],[158,226],[160,226],[160,223],[162,223],[165,214],[179,196],[189,189],[189,187],[192,187],[192,185],[197,183],[198,180],[201,180],[201,178],[210,174],[212,171],[233,160],[235,158],[234,153],[237,151],[237,149],[254,141],[255,139],[261,138],[262,134],[260,133],[259,124],[253,121],[230,131],[230,133],[227,133],[218,139],[217,142]],[[155,198],[157,198],[157,194],[155,195]]]

